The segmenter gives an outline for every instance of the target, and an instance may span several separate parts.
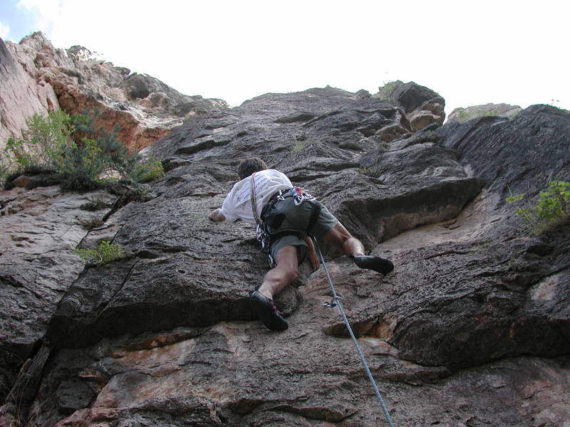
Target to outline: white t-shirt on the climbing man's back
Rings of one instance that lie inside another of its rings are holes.
[[[257,214],[277,191],[290,189],[293,186],[287,176],[275,169],[266,169],[255,173],[255,194]],[[252,176],[237,182],[229,191],[222,204],[222,214],[228,221],[238,218],[249,223],[256,223],[252,209]]]

